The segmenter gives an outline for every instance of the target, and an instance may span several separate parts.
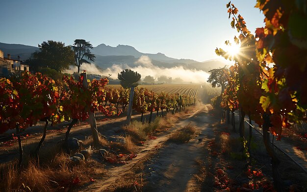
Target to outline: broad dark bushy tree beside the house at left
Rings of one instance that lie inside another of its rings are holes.
[[[40,63],[40,67],[49,67],[61,72],[75,63],[74,51],[62,42],[49,40],[38,47],[40,52],[33,53],[33,57]]]

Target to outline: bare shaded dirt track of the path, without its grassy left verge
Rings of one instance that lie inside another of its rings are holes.
[[[167,142],[145,167],[148,184],[144,192],[196,192],[200,191],[194,175],[198,173],[198,160],[205,158],[204,147],[215,137],[213,125],[219,119],[204,108],[195,116],[181,121],[177,126],[184,127],[190,122],[199,131],[196,138],[188,143]]]

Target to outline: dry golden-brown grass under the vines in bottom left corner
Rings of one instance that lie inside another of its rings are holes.
[[[0,189],[4,192],[66,191],[73,189],[78,184],[88,182],[90,173],[95,172],[94,167],[96,166],[97,162],[93,160],[72,166],[69,156],[64,153],[57,154],[48,165],[44,166],[38,166],[34,161],[29,161],[27,168],[23,171],[16,169],[16,164],[12,163],[3,168]],[[79,181],[76,181],[76,178]]]

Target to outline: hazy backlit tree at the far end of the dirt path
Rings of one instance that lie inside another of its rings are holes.
[[[211,69],[209,70],[210,76],[207,80],[208,83],[212,85],[212,87],[221,87],[221,94],[224,93],[225,87],[227,85],[227,73],[228,68],[224,66],[223,68]]]

